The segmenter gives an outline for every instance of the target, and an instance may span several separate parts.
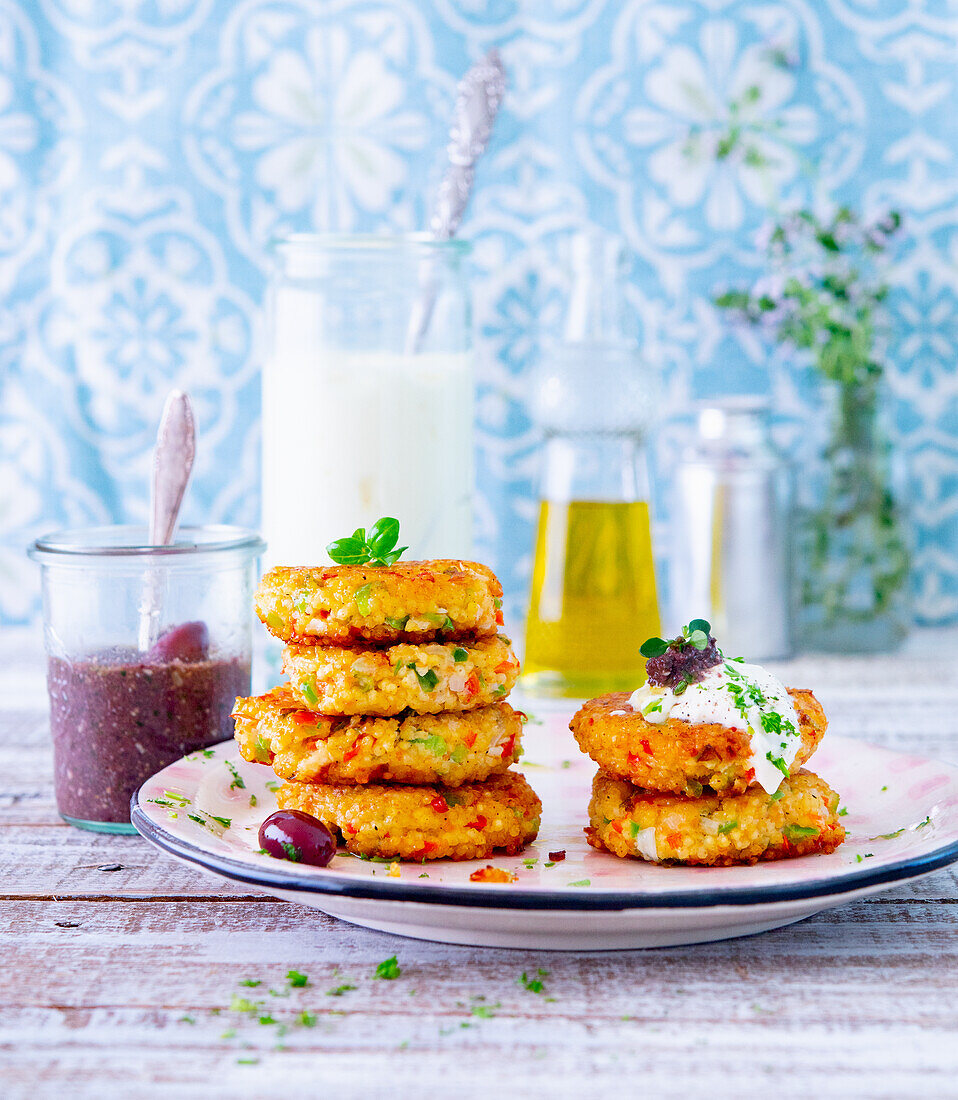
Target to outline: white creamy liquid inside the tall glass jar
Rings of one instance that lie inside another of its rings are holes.
[[[381,516],[399,520],[407,559],[469,558],[471,353],[326,346],[308,290],[282,288],[274,308],[263,371],[269,563],[328,561],[327,543]]]

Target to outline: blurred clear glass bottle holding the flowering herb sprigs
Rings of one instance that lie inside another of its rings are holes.
[[[878,380],[828,384],[816,499],[797,516],[796,623],[803,649],[894,650],[911,623],[904,468]]]

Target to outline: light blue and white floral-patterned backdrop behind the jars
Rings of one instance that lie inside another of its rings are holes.
[[[40,530],[145,518],[172,385],[202,430],[187,518],[256,524],[265,242],[420,226],[455,80],[492,45],[511,88],[464,233],[478,553],[513,614],[529,366],[561,321],[569,233],[628,239],[671,409],[768,392],[801,457],[821,428],[808,372],[709,298],[755,277],[757,230],[812,178],[906,215],[889,362],[917,608],[958,614],[956,0],[0,0],[0,622],[36,616]],[[731,124],[748,140],[717,156]],[[663,427],[660,464],[682,432]]]

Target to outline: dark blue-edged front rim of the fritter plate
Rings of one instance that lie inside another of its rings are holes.
[[[207,871],[234,882],[266,890],[298,891],[337,898],[373,901],[416,902],[472,909],[564,910],[577,912],[636,909],[691,910],[720,906],[773,905],[840,897],[903,880],[921,878],[958,862],[958,839],[923,855],[885,864],[874,870],[862,869],[840,879],[813,879],[807,882],[771,883],[760,887],[717,887],[707,890],[671,890],[651,894],[641,891],[603,890],[570,892],[565,890],[515,889],[509,884],[484,884],[472,888],[425,884],[385,879],[357,879],[329,873],[323,877],[297,875],[285,868],[258,868],[230,856],[217,856],[207,849],[167,833],[153,822],[139,803],[137,790],[130,800],[130,820],[144,840],[167,855],[184,859]]]

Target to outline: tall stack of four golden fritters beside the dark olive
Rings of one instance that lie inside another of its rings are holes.
[[[541,804],[510,771],[522,715],[502,624],[502,586],[484,565],[277,568],[256,613],[286,642],[287,684],[236,701],[240,752],[286,780],[301,810],[361,856],[488,858],[519,851]]]

